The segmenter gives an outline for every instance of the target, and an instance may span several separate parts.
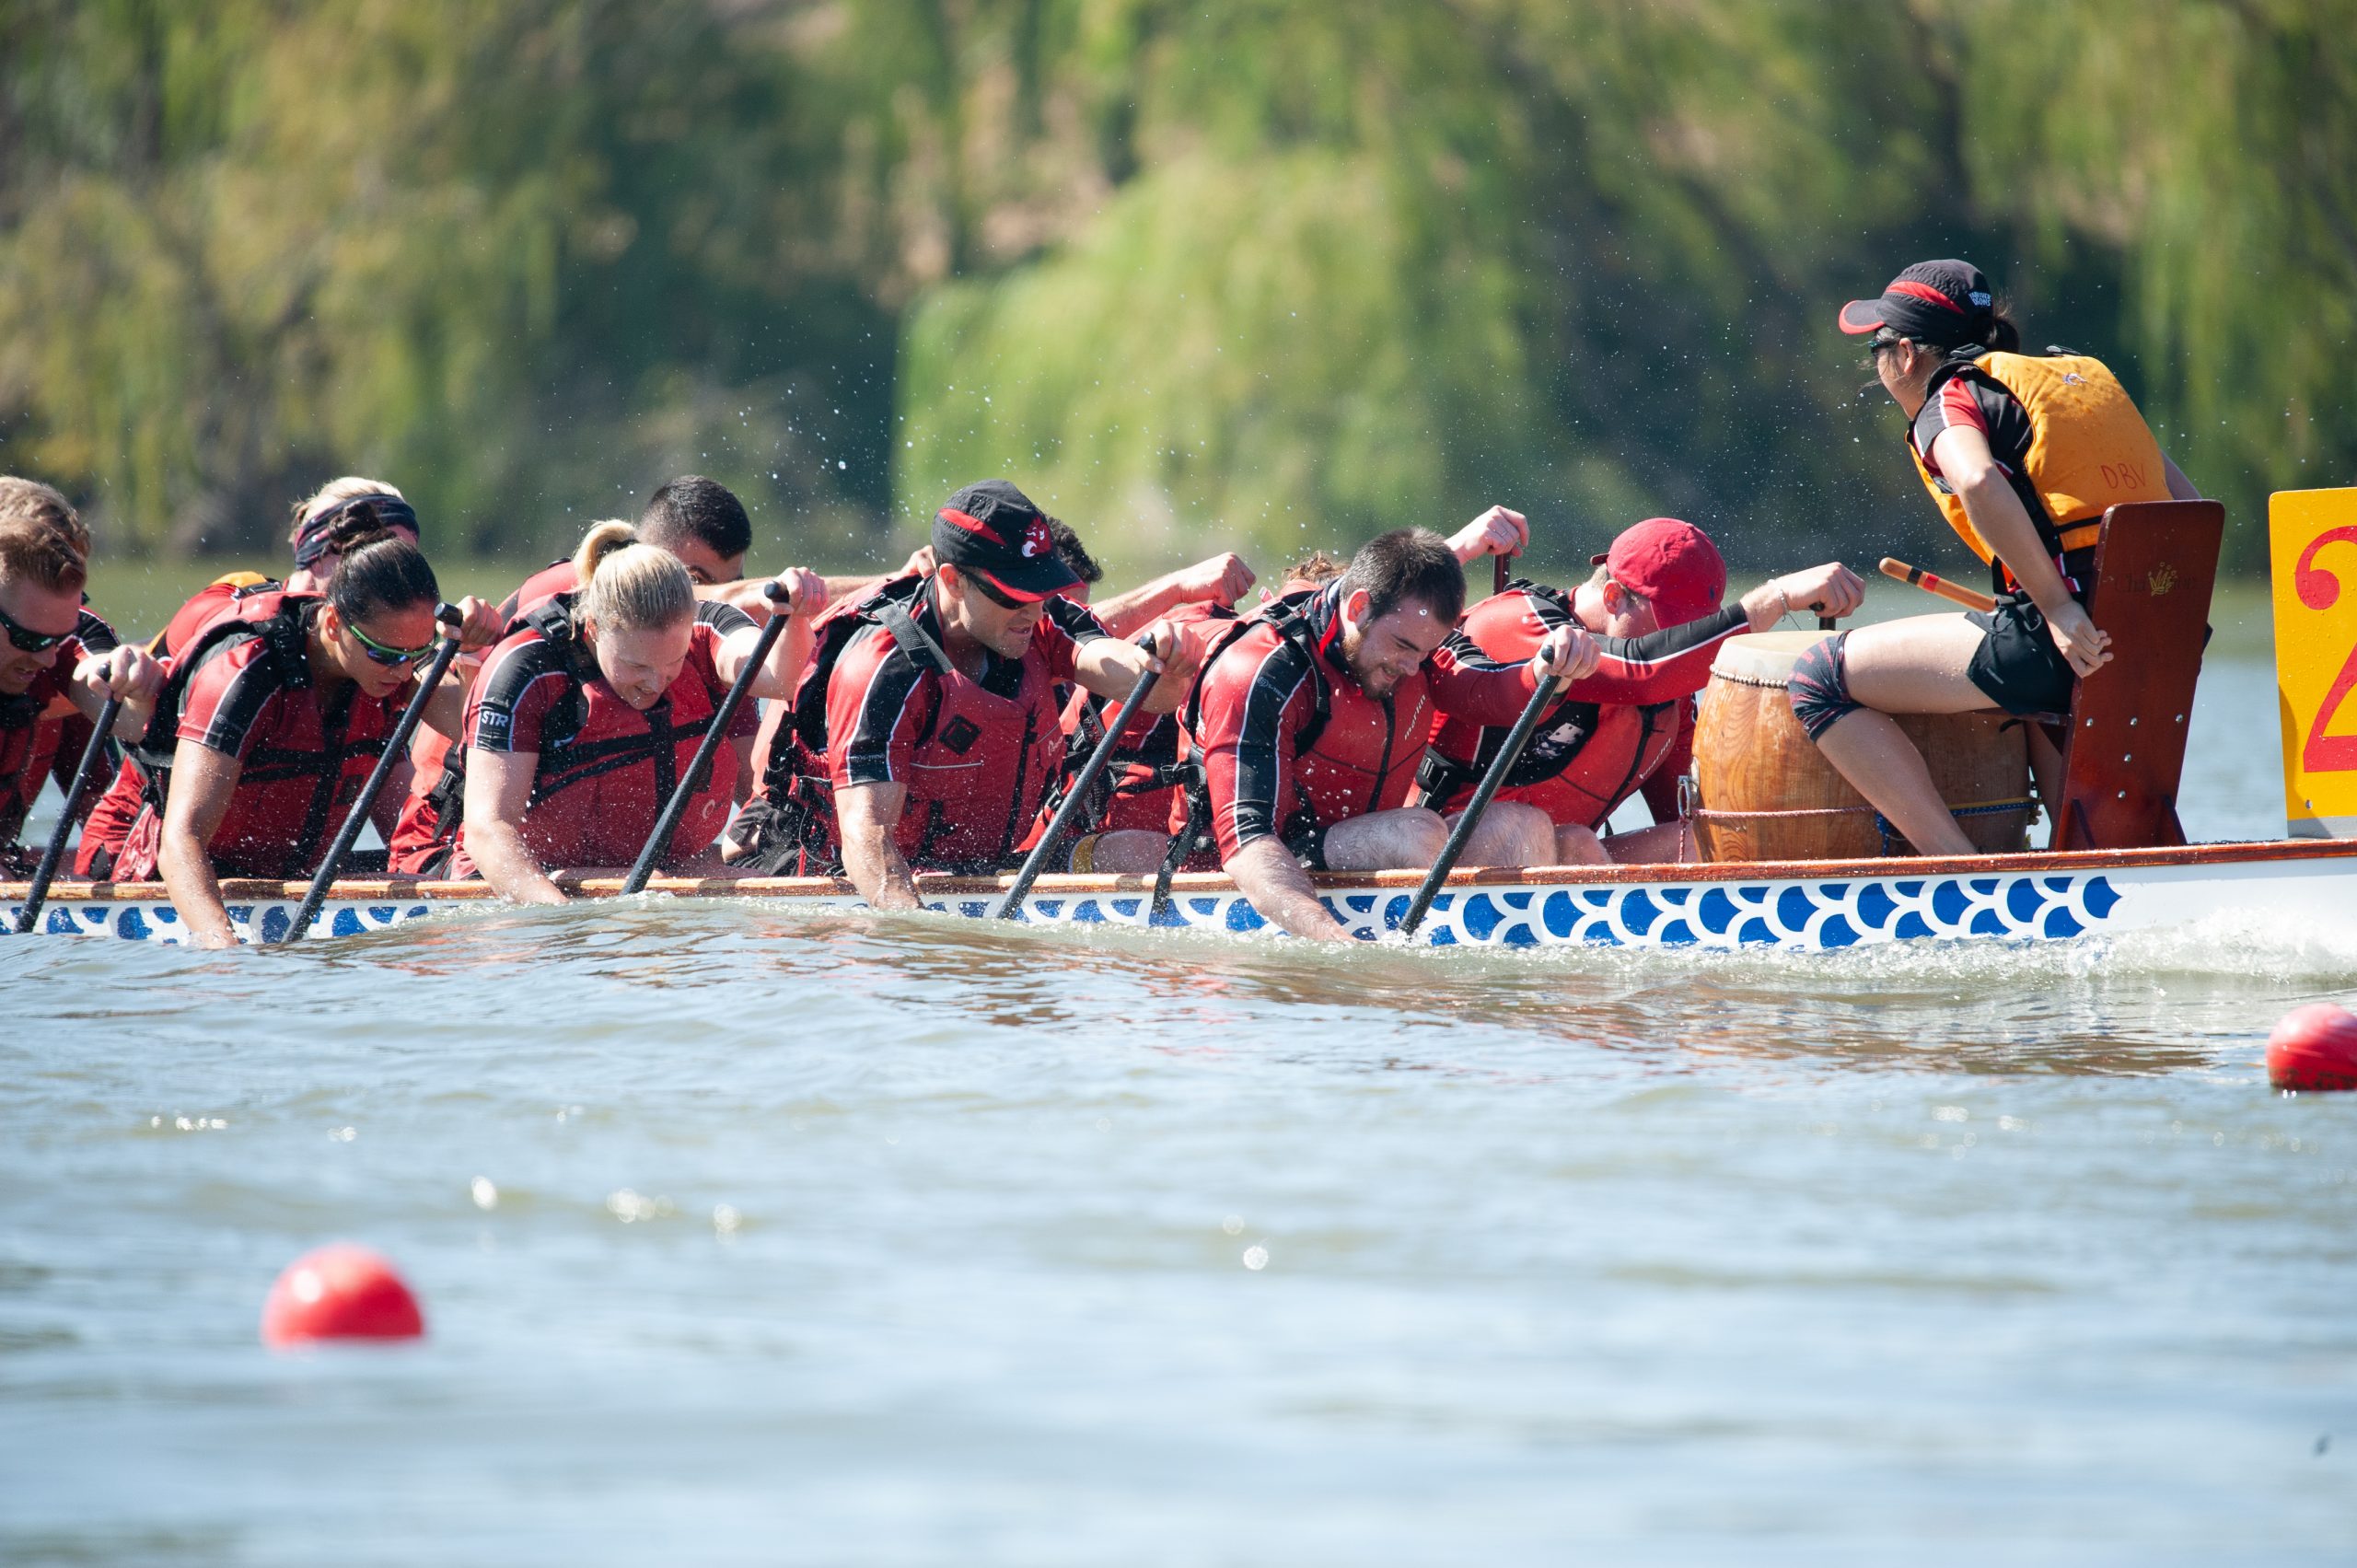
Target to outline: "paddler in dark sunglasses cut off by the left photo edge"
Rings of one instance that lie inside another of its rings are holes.
[[[130,740],[163,691],[163,665],[82,608],[87,575],[90,531],[66,498],[0,476],[0,875],[33,870],[40,849],[16,835],[42,783],[73,785],[106,698],[123,698]]]

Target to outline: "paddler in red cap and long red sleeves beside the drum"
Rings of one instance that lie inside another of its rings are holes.
[[[1692,700],[1728,637],[1765,632],[1787,611],[1850,615],[1864,601],[1857,573],[1827,561],[1772,578],[1730,608],[1728,566],[1692,523],[1650,516],[1591,559],[1596,573],[1563,592],[1516,580],[1466,611],[1461,632],[1494,660],[1530,658],[1560,625],[1598,639],[1596,670],[1539,719],[1499,799],[1527,802],[1556,823],[1565,865],[1690,861],[1678,818],[1678,776],[1692,759]],[[1473,795],[1506,729],[1440,719],[1417,773],[1421,802],[1454,811]],[[1652,828],[1598,842],[1596,830],[1638,790]]]

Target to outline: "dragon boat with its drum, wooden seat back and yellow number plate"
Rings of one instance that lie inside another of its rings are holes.
[[[2223,512],[2216,502],[2114,507],[2095,547],[2091,613],[2114,632],[2114,665],[2048,714],[2060,788],[2041,802],[2046,851],[2025,851],[2027,764],[1996,719],[1923,733],[1935,783],[1985,851],[1912,858],[1890,825],[1798,740],[1782,700],[1794,634],[1730,639],[1702,700],[1695,790],[1685,816],[1702,863],[1459,870],[1405,941],[1431,948],[1798,948],[1909,941],[2055,943],[2166,931],[2232,917],[2331,927],[2357,917],[2357,736],[2331,733],[2357,693],[2357,597],[2343,597],[2329,545],[2357,547],[2357,488],[2286,490],[2272,502],[2277,677],[2284,719],[2286,837],[2187,844],[2176,792],[2204,648]],[[1749,644],[1749,646],[1739,646]],[[1770,667],[1761,674],[1758,667]],[[1761,700],[1761,691],[1768,693]],[[1782,740],[1780,726],[1791,726]],[[1987,726],[1980,733],[1970,726]],[[1714,769],[1716,752],[1716,769]],[[1949,776],[1949,762],[1973,766]],[[1992,759],[1999,766],[1989,773]],[[1994,795],[1996,799],[1987,799]],[[1794,849],[1801,846],[1801,849]],[[1874,854],[1881,846],[1883,854]],[[622,891],[622,872],[573,870],[585,898]],[[1011,877],[917,879],[929,910],[992,920]],[[1402,941],[1424,872],[1313,877],[1327,910],[1360,941]],[[243,941],[283,941],[304,882],[224,882]],[[0,882],[0,934],[31,896]],[[849,913],[865,903],[834,877],[658,877],[636,908],[702,903],[766,913]],[[481,882],[339,879],[306,938],[349,938],[436,917],[488,913]],[[1014,910],[1030,927],[1141,927],[1275,936],[1216,872],[1153,877],[1047,875]],[[163,884],[59,882],[38,934],[184,943]]]

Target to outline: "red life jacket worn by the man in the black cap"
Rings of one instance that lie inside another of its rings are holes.
[[[929,582],[898,578],[818,622],[792,717],[771,736],[759,809],[747,806],[738,818],[757,870],[818,875],[841,868],[827,783],[827,686],[844,651],[870,627],[882,627],[938,686],[915,736],[907,799],[893,835],[900,856],[915,870],[985,872],[1009,865],[1021,849],[1065,757],[1056,684],[1037,644],[1021,660],[1014,696],[966,677],[910,613],[922,606]]]

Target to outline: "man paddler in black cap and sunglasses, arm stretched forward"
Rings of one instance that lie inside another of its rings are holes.
[[[1146,707],[1169,712],[1197,660],[1169,620],[1148,627],[1155,653],[1108,637],[1065,597],[1080,578],[1049,519],[1004,479],[950,498],[933,559],[820,625],[778,752],[790,766],[764,778],[768,835],[799,835],[808,870],[839,856],[889,910],[917,908],[919,870],[1014,868],[1063,764],[1058,684],[1120,700],[1155,674]]]

